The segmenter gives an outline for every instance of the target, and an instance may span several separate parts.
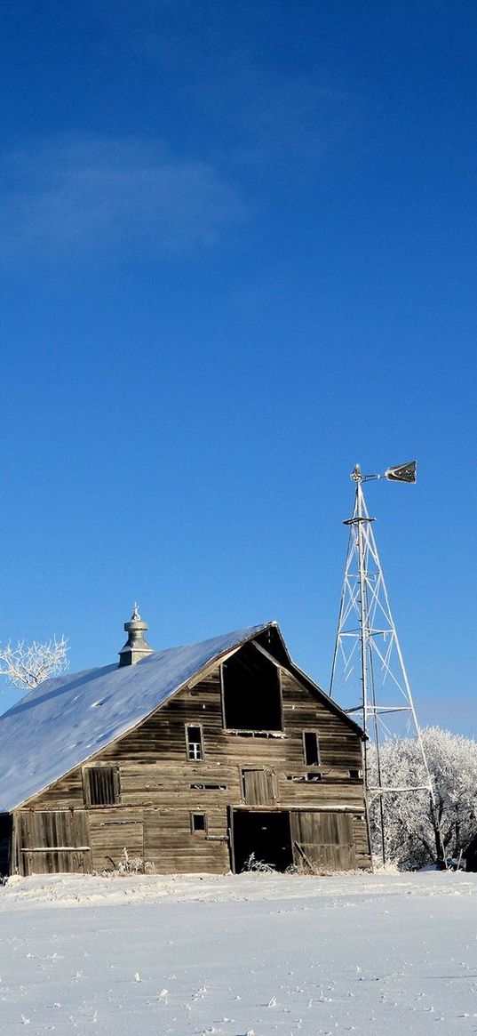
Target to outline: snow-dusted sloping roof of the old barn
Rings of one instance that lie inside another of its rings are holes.
[[[221,656],[272,629],[286,664],[304,677],[292,663],[276,624],[266,623],[154,652],[137,665],[107,665],[44,681],[0,716],[0,813],[10,812],[137,726]]]

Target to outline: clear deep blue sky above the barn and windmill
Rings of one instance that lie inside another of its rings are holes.
[[[327,685],[349,473],[474,735],[473,3],[6,3],[2,640],[277,618]],[[0,697],[6,708],[13,696]]]

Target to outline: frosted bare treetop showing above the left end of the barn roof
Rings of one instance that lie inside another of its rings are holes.
[[[16,646],[0,646],[0,675],[6,677],[18,690],[32,691],[49,677],[58,677],[68,668],[68,641],[66,637],[53,637],[44,643],[36,640]]]

